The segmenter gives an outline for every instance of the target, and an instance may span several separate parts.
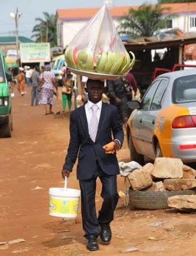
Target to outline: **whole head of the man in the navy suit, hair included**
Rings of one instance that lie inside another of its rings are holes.
[[[96,104],[102,99],[104,82],[100,80],[88,79],[86,92],[88,93],[89,100]]]

